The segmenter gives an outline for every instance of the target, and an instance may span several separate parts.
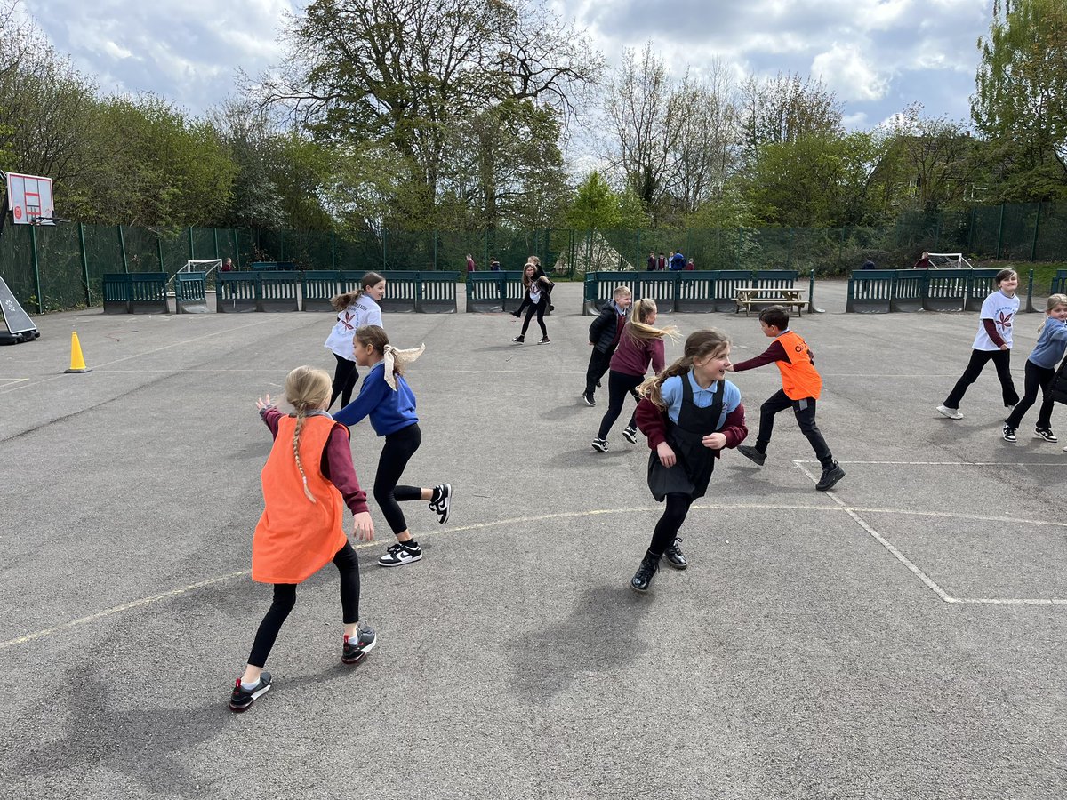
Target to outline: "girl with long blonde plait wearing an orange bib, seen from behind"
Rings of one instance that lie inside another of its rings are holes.
[[[234,711],[248,710],[270,689],[270,673],[262,668],[297,603],[297,585],[331,560],[340,573],[341,661],[361,661],[378,641],[370,627],[360,624],[360,562],[343,528],[345,506],[363,541],[375,538],[375,524],[352,468],[348,430],[325,411],[329,373],[298,367],[285,379],[285,399],[296,413],[282,414],[270,395],[266,402],[256,401],[274,446],[262,469],[265,508],[252,539],[252,579],[273,583],[274,601],[259,623],[244,674],[229,697]]]

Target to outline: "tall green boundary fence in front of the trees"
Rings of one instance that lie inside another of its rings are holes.
[[[162,231],[127,225],[7,225],[0,236],[0,275],[28,309],[45,311],[99,305],[105,273],[165,272],[173,276],[190,259],[233,258],[239,270],[248,270],[253,262],[273,261],[291,263],[301,272],[458,272],[462,281],[467,254],[480,272],[488,271],[493,259],[504,270],[521,270],[528,256],[537,255],[545,272],[557,277],[641,272],[650,252],[667,256],[671,251],[692,258],[699,271],[786,269],[829,275],[847,274],[867,258],[879,269],[906,269],[924,250],[965,253],[972,260],[1061,260],[1067,254],[1067,204],[909,212],[894,224],[877,228],[387,229],[343,235],[329,230]]]

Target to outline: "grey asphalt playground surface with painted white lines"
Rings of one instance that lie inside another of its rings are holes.
[[[407,503],[426,556],[383,570],[372,506],[377,649],[340,663],[328,566],[243,715],[226,700],[271,593],[249,576],[271,446],[254,403],[292,367],[332,371],[331,315],[38,318],[39,340],[0,348],[0,794],[1064,797],[1067,409],[1057,445],[1030,437],[1036,409],[1001,441],[990,368],[941,418],[976,314],[815,297],[826,313],[794,330],[847,476],[816,492],[781,415],[766,466],[723,455],[682,530],[691,565],[644,596],[627,583],[659,511],[648,450],[625,418],[590,447],[607,397],[579,400],[580,285],[558,285],[547,346],[511,343],[506,315],[387,314],[394,343],[427,346],[404,481],[449,481],[452,518]],[[735,361],[769,341],[754,316],[668,321],[727,331]],[[1016,321],[1020,390],[1039,321]],[[90,372],[64,373],[71,331]],[[753,441],[778,371],[734,381]],[[379,449],[353,429],[368,490]]]

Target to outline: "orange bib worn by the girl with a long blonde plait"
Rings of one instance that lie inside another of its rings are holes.
[[[300,430],[300,463],[317,500],[312,502],[304,494],[292,452],[297,418],[278,419],[274,447],[260,474],[265,508],[252,539],[253,580],[300,583],[333,561],[345,546],[345,498],[319,468],[335,425],[330,417],[310,416]]]

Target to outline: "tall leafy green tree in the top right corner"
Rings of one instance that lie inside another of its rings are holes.
[[[1067,6],[994,0],[971,116],[1000,199],[1067,196]]]

